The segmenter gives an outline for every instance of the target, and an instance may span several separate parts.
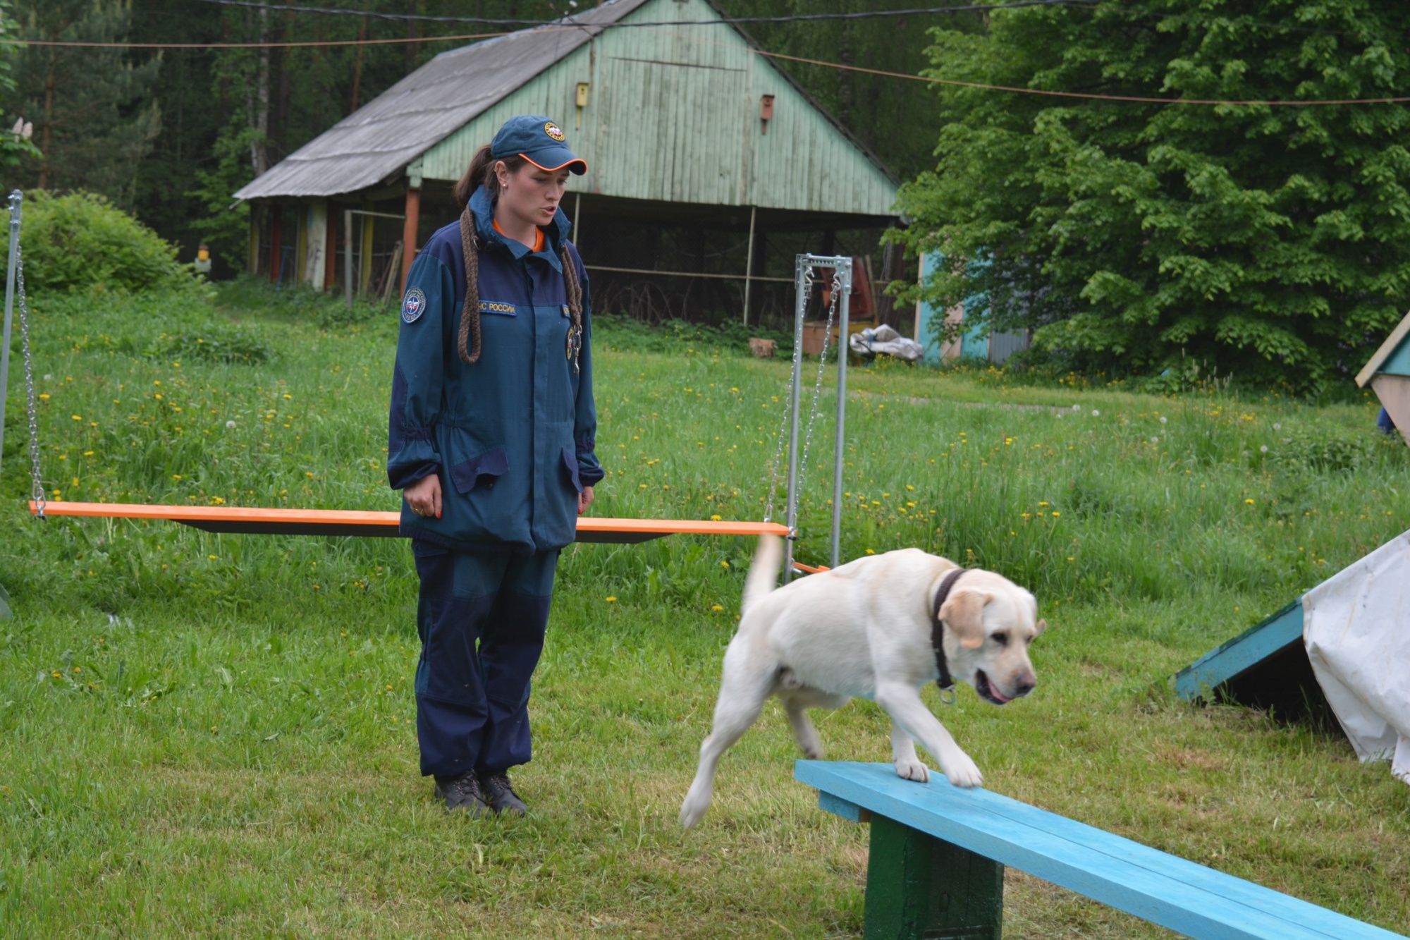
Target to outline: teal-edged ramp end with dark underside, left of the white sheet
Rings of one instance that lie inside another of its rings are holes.
[[[1303,646],[1301,600],[1265,617],[1175,675],[1186,701],[1231,700],[1292,717],[1325,707]]]

